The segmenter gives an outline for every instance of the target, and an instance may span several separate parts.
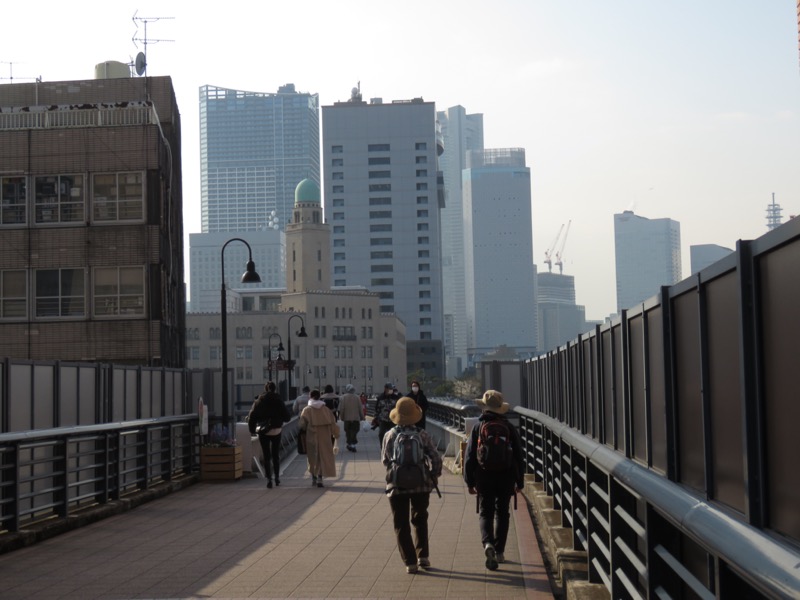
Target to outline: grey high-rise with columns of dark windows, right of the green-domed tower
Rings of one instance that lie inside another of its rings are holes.
[[[436,109],[421,98],[322,108],[325,218],[333,286],[377,292],[406,324],[409,372],[443,377]]]

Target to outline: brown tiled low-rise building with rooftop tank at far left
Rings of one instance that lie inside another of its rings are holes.
[[[2,357],[184,366],[178,106],[116,64],[0,85]]]

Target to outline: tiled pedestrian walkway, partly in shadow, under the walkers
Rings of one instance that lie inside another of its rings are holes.
[[[0,556],[0,597],[552,598],[522,499],[506,559],[484,567],[475,498],[445,474],[431,495],[432,568],[408,575],[383,493],[377,435],[344,448],[312,488],[305,457],[279,488],[199,483],[123,515]],[[344,436],[342,436],[342,441]]]

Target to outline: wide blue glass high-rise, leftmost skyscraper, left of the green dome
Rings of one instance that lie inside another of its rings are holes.
[[[306,178],[319,183],[317,94],[200,88],[203,233],[282,230]]]

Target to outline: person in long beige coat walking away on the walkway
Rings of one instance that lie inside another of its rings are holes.
[[[336,477],[336,459],[339,425],[325,402],[320,400],[319,390],[311,390],[308,406],[300,413],[299,427],[306,432],[306,459],[311,485],[323,487],[323,477]]]

